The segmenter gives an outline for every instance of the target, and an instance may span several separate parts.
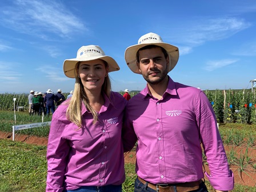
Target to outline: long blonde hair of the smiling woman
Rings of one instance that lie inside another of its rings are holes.
[[[102,60],[103,61],[103,60]],[[105,63],[106,69],[108,69],[109,65],[107,64],[106,61],[103,61]],[[78,68],[79,68],[79,63],[76,64],[75,67],[75,86],[74,86],[74,93],[73,96],[70,99],[69,106],[67,107],[67,119],[69,121],[75,123],[79,128],[82,126],[82,114],[81,114],[81,109],[82,109],[82,102],[85,103],[86,109],[93,114],[93,122],[98,121],[98,114],[97,111],[95,111],[91,106],[89,99],[85,93],[85,89],[83,87],[81,79],[78,77]],[[111,93],[111,82],[109,75],[105,77],[105,81],[101,87],[101,94],[105,93],[108,98],[110,98],[110,93]]]

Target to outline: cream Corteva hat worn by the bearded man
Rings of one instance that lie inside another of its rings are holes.
[[[169,43],[164,43],[162,38],[158,34],[147,33],[143,35],[141,38],[139,38],[137,45],[130,46],[125,50],[125,61],[129,66],[130,70],[133,71],[133,73],[141,74],[137,66],[136,55],[139,49],[147,45],[157,45],[157,46],[163,47],[163,49],[165,49],[169,54],[169,58],[170,58],[168,70],[169,71],[173,70],[173,68],[175,67],[179,59],[178,47],[170,45]]]

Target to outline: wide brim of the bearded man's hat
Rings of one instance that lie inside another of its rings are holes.
[[[169,54],[169,58],[171,61],[171,62],[169,62],[169,66],[168,66],[169,71],[168,72],[173,70],[173,68],[175,67],[175,65],[177,64],[177,62],[179,60],[178,47],[170,45],[168,43],[141,43],[138,45],[130,46],[125,50],[125,61],[128,65],[128,67],[130,68],[130,70],[133,71],[133,73],[141,74],[141,72],[139,71],[138,66],[137,66],[136,54],[139,49],[141,49],[142,47],[145,47],[147,45],[157,45],[157,46],[163,47],[163,49],[165,49],[167,51],[167,53]]]

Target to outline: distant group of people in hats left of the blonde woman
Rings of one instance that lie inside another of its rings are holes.
[[[73,91],[67,96],[67,99],[73,95]],[[66,101],[61,89],[54,94],[52,90],[48,89],[45,93],[31,90],[29,94],[29,114],[30,115],[50,115],[54,113],[55,109]]]

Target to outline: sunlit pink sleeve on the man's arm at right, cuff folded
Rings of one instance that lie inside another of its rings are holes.
[[[210,169],[206,176],[215,190],[233,190],[234,175],[229,169],[213,107],[203,92],[197,98],[196,110],[201,142]]]

